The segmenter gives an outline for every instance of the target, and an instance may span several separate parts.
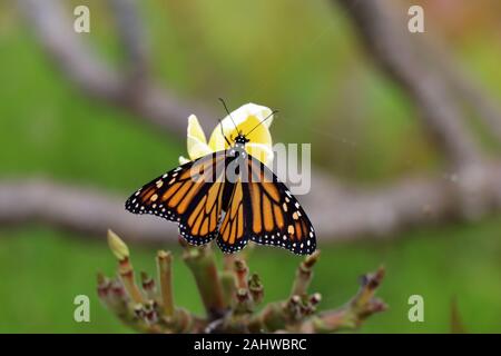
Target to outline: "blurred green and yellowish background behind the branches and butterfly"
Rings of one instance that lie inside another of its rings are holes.
[[[89,6],[91,33],[81,36],[120,66],[106,2],[68,2]],[[461,65],[501,97],[495,1],[436,2],[441,7],[425,7],[426,31],[444,38]],[[314,164],[351,184],[440,169],[412,103],[374,69],[348,19],[328,1],[147,0],[140,10],[155,76],[179,96],[197,98],[216,112],[217,97],[233,107],[279,108],[274,140],[312,142]],[[160,134],[79,92],[8,0],[0,2],[0,178],[46,177],[104,187],[125,199],[186,151],[185,137]],[[205,127],[216,122],[199,120]],[[116,265],[105,238],[39,225],[0,227],[0,332],[128,332],[96,296],[96,273],[110,275]],[[346,301],[360,275],[381,264],[387,269],[379,295],[390,309],[370,318],[362,333],[448,333],[454,297],[466,330],[501,332],[501,216],[377,240],[318,240],[323,255],[312,290],[322,293],[324,308]],[[177,246],[131,245],[135,267],[153,273],[159,247],[173,248],[178,261],[176,299],[202,312]],[[249,265],[263,277],[266,300],[288,293],[298,260],[283,250],[256,248]],[[91,298],[91,323],[73,322],[79,294]],[[424,297],[424,323],[407,319],[413,294]]]

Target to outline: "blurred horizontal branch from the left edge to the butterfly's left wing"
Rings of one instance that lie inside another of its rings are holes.
[[[153,216],[134,218],[124,209],[122,200],[108,191],[42,179],[1,181],[0,222],[38,221],[90,236],[102,236],[112,226],[118,233],[127,233],[128,240],[141,241],[165,241],[169,234],[177,236],[174,224]]]

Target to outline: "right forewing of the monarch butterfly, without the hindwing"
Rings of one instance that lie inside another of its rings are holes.
[[[315,230],[297,199],[259,160],[248,156],[248,234],[261,245],[310,255],[316,248]]]

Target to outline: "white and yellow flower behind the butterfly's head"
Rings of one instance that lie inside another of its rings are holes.
[[[220,123],[218,123],[210,139],[207,144],[204,130],[198,123],[195,115],[188,118],[188,156],[190,159],[179,157],[179,162],[186,164],[189,160],[197,159],[205,155],[224,150],[228,148],[225,137],[233,144],[233,139],[242,131],[243,135],[248,134],[256,126],[247,137],[249,142],[245,145],[245,150],[253,157],[259,159],[263,164],[269,166],[273,162],[272,135],[269,134],[269,126],[273,121],[273,116],[269,117],[263,125],[259,125],[264,119],[272,115],[272,110],[255,103],[246,103],[232,112],[232,118],[237,128],[232,122],[229,116],[226,116]],[[223,126],[223,132],[220,127]]]

